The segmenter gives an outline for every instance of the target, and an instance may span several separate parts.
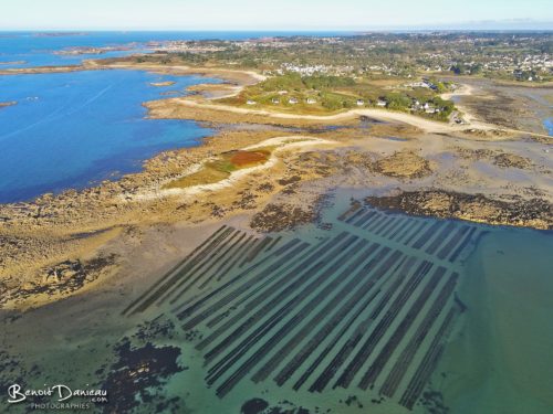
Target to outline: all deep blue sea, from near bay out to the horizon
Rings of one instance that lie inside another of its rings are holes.
[[[79,64],[83,59],[144,51],[149,41],[293,34],[337,33],[0,32],[0,68]],[[74,46],[128,44],[133,44],[133,51],[76,56],[53,53]],[[150,85],[160,81],[177,83],[168,87]],[[205,82],[218,81],[142,71],[0,76],[0,103],[17,102],[0,108],[0,203],[116,179],[140,170],[144,160],[163,150],[198,145],[211,134],[209,129],[194,121],[146,119],[142,103],[161,98],[164,92],[184,94],[187,86]]]

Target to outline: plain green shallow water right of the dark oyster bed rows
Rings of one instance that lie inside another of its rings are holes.
[[[551,413],[553,234],[488,229],[465,264],[468,310],[435,385],[456,414]]]

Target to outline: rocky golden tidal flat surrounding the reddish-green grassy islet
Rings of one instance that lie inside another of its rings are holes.
[[[401,130],[397,128],[396,131]],[[310,139],[310,134],[306,131],[296,138]],[[18,282],[20,278],[23,285],[36,277],[33,275],[38,274],[43,278],[44,276],[40,275],[51,272],[49,269],[52,266],[55,267],[67,258],[86,262],[98,255],[108,256],[113,253],[114,244],[126,246],[128,243],[128,248],[134,248],[136,242],[131,241],[136,237],[140,240],[139,234],[146,229],[165,229],[161,231],[167,232],[173,226],[213,223],[236,215],[246,214],[251,217],[264,206],[274,205],[274,202],[276,205],[284,202],[286,205],[298,205],[299,209],[309,211],[309,205],[315,205],[317,198],[336,187],[357,188],[358,191],[369,193],[374,191],[376,197],[387,197],[388,188],[397,188],[400,191],[417,190],[421,187],[436,191],[448,191],[452,188],[455,191],[471,194],[478,192],[471,190],[472,185],[480,185],[480,190],[488,189],[486,192],[492,200],[491,205],[497,203],[510,205],[513,202],[512,198],[520,192],[513,187],[503,197],[501,192],[505,190],[497,193],[500,187],[498,183],[492,184],[497,178],[482,181],[482,177],[478,174],[469,181],[469,184],[465,183],[466,178],[451,181],[452,177],[448,177],[447,170],[437,166],[437,161],[430,156],[437,142],[441,142],[444,149],[449,148],[448,138],[439,135],[422,134],[406,141],[378,139],[366,141],[326,131],[314,138],[323,139],[324,142],[310,141],[311,148],[283,146],[280,151],[274,152],[270,163],[239,171],[229,180],[215,185],[174,193],[160,191],[165,183],[179,179],[182,171],[186,173],[187,169],[204,162],[215,153],[252,149],[286,139],[280,130],[246,132],[222,129],[217,136],[207,138],[199,147],[158,155],[146,163],[143,172],[124,177],[121,181],[106,182],[81,192],[70,190],[56,197],[43,195],[32,203],[0,205],[0,217],[4,217],[3,222],[0,221],[0,238],[18,246],[2,252],[12,259],[7,262],[7,256],[0,257],[0,280],[11,279],[9,285],[15,283],[17,286],[21,286]],[[320,142],[324,146],[320,147]],[[478,141],[470,139],[460,142],[467,148],[479,146]],[[499,145],[499,142],[489,144]],[[427,149],[417,155],[419,146]],[[364,149],[365,147],[367,149]],[[410,148],[413,157],[397,158],[395,155],[397,151],[405,151],[401,148]],[[383,149],[385,153],[375,152]],[[455,148],[448,150],[453,151],[452,153],[459,152]],[[463,159],[472,162],[474,156],[470,153],[477,155],[476,151],[470,149]],[[324,158],[321,159],[319,153]],[[324,156],[325,153],[328,156]],[[426,159],[430,161],[421,162]],[[404,176],[406,164],[409,163],[413,168],[407,176]],[[351,168],[357,172],[354,174],[347,172]],[[428,178],[431,180],[428,181]],[[480,181],[482,182],[479,184]],[[379,188],[382,190],[378,190]],[[535,195],[529,193],[524,199],[533,200]],[[541,197],[547,200],[546,193]],[[552,202],[553,194],[550,193],[546,203],[551,205]],[[70,209],[66,208],[69,205]],[[482,206],[486,208],[483,204]],[[479,204],[474,204],[474,208],[479,208]],[[479,220],[474,217],[466,215],[461,219],[486,222],[487,215],[484,213],[484,220],[481,219],[482,215],[478,217]],[[543,230],[553,225],[551,222],[544,224],[543,221],[536,222],[533,219],[517,222],[494,219],[488,223]],[[106,233],[108,229],[118,230]],[[138,232],[136,236],[133,235],[135,232]],[[84,233],[84,236],[80,236]],[[129,241],[131,235],[133,236]],[[44,254],[48,259],[40,259],[39,257],[45,257]],[[122,264],[116,262],[114,265]],[[10,274],[17,274],[18,278],[9,277]],[[58,296],[49,296],[48,300],[53,300],[55,297]]]

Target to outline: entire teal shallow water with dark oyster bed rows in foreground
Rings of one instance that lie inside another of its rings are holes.
[[[105,412],[551,413],[551,232],[348,200],[324,229],[222,226],[115,301],[8,318],[0,385],[94,384]]]

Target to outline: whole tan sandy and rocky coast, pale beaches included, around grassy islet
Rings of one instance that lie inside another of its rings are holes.
[[[220,68],[114,66],[109,67],[217,76],[231,83],[230,93],[239,93],[241,87],[263,78],[251,72]],[[90,67],[103,68],[94,64]],[[229,92],[229,84],[222,84],[221,88]],[[10,246],[0,257],[0,280],[4,280],[0,289],[6,298],[0,307],[40,306],[73,295],[73,291],[67,293],[61,287],[56,290],[60,282],[44,276],[67,259],[86,262],[115,254],[114,257],[119,258],[106,265],[105,269],[98,269],[101,276],[93,278],[107,279],[109,274],[125,265],[126,254],[121,251],[126,252],[132,246],[139,248],[136,243],[148,229],[158,229],[165,234],[175,226],[211,225],[237,216],[249,217],[246,219],[249,221],[255,213],[274,205],[295,205],[304,212],[298,214],[299,217],[314,216],[312,208],[317,200],[337,187],[355,188],[374,197],[387,197],[390,189],[400,192],[420,189],[466,194],[483,192],[500,210],[502,205],[509,209],[510,204],[517,203],[517,198],[528,201],[540,199],[545,202],[542,206],[544,214],[547,213],[547,203],[551,205],[553,202],[553,192],[546,179],[551,170],[540,155],[541,148],[551,142],[550,137],[535,135],[544,142],[534,141],[536,149],[529,152],[524,142],[529,132],[489,124],[452,126],[378,109],[294,116],[213,104],[209,96],[202,96],[201,86],[196,89],[198,96],[159,99],[144,105],[149,109],[150,117],[220,124],[218,132],[204,139],[200,146],[161,152],[145,161],[142,172],[124,176],[118,181],[104,181],[98,187],[83,191],[67,190],[59,195],[44,194],[33,202],[0,205],[0,237]],[[217,86],[209,86],[208,89],[212,92]],[[367,130],[361,126],[359,117],[385,123],[375,123]],[[250,129],[246,125],[259,128]],[[286,129],[293,130],[293,134],[286,132]],[[304,140],[304,144],[278,144],[291,136]],[[278,150],[263,166],[240,170],[228,180],[207,187],[185,191],[163,190],[167,183],[186,176],[187,171],[194,171],[217,155],[269,144],[276,145]],[[502,144],[512,148],[505,152]],[[520,182],[510,182],[500,177],[499,170],[471,171],[470,166],[481,162],[494,164],[497,157],[502,153],[509,156],[511,151],[524,159],[532,157],[532,161],[523,163],[523,167],[509,168],[518,168],[524,177],[538,174],[535,177],[540,179],[534,180],[534,189],[524,187],[525,178],[521,178]],[[406,155],[409,156],[406,158]],[[408,174],[405,174],[406,162],[413,166]],[[486,209],[487,205],[476,203],[473,206]],[[546,215],[541,221],[522,217],[514,223],[512,216],[501,211],[497,216],[500,219],[488,222],[552,229],[551,217],[547,221]],[[461,219],[486,222],[486,213]],[[53,284],[49,295],[32,295],[44,284]],[[21,296],[21,291],[30,294]]]

